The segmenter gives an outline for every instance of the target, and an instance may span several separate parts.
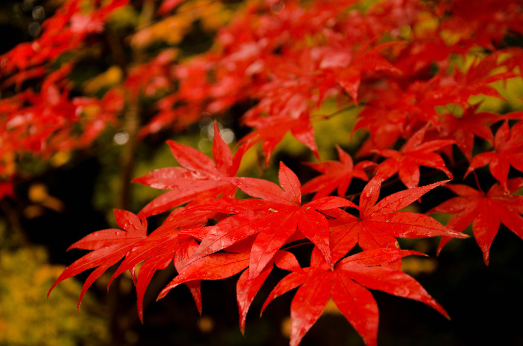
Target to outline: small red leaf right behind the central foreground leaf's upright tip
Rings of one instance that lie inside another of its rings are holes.
[[[336,149],[338,151],[339,162],[324,161],[320,163],[306,164],[315,170],[322,172],[322,175],[306,182],[302,187],[303,193],[316,191],[314,199],[318,199],[327,196],[337,188],[338,196],[344,197],[353,177],[366,181],[369,180],[365,168],[372,167],[376,164],[371,161],[362,161],[354,166],[353,159],[349,154],[337,145]]]

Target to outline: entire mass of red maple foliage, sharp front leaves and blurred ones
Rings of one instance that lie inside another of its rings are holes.
[[[401,270],[403,257],[423,253],[401,249],[397,239],[441,236],[439,252],[450,239],[466,238],[463,232],[472,225],[488,264],[501,223],[523,238],[518,194],[523,111],[485,107],[487,100],[505,101],[503,85],[522,77],[523,49],[509,43],[523,36],[519,2],[488,0],[471,10],[463,0],[391,0],[368,8],[356,0],[247,1],[218,30],[210,51],[178,61],[169,48],[129,68],[122,83],[101,98],[70,97],[67,76],[75,62],[56,70],[52,63],[81,48],[87,36],[103,32],[112,11],[132,5],[93,1],[88,11],[77,11],[78,3],[66,1],[41,37],[0,56],[7,76],[3,87],[42,77],[38,92],[25,90],[0,100],[7,114],[0,123],[0,174],[12,175],[22,152],[46,156],[90,145],[108,124],[120,121],[126,102],[139,97],[152,98],[155,110],[142,122],[141,138],[184,128],[203,114],[219,118],[240,103],[252,105],[240,120],[251,131],[237,142],[233,155],[215,123],[212,159],[168,141],[179,165],[134,179],[167,191],[137,214],[115,210],[120,229],[100,230],[73,244],[70,248],[90,252],[67,267],[51,290],[94,269],[80,302],[88,287],[121,261],[112,279],[130,271],[143,319],[146,287],[157,270],[171,263],[177,275],[158,297],[185,284],[200,312],[202,280],[239,274],[243,331],[249,307],[277,267],[289,273],[263,309],[297,289],[290,307],[291,345],[300,343],[332,298],[372,346],[379,314],[369,289],[414,299],[448,317]],[[175,15],[183,5],[165,0],[156,15]],[[61,39],[73,34],[75,40],[67,44]],[[49,48],[35,49],[47,47],[51,38]],[[359,108],[354,131],[366,137],[353,155],[337,146],[339,160],[321,160],[314,125],[344,114],[320,113],[320,106],[332,100],[339,109]],[[84,129],[82,135],[72,134],[75,124]],[[316,157],[305,164],[319,175],[302,185],[279,163],[279,184],[238,176],[242,158],[253,147],[261,148],[270,165],[289,132]],[[488,171],[477,174],[487,165]],[[356,179],[365,187],[355,188]],[[420,181],[430,183],[420,186]],[[385,184],[406,189],[384,194]],[[403,210],[444,184],[457,196],[425,214]],[[250,198],[237,199],[237,190]],[[147,217],[161,213],[167,214],[165,221],[148,232]],[[445,226],[431,213],[454,215]],[[310,249],[309,256],[298,258],[297,247]]]

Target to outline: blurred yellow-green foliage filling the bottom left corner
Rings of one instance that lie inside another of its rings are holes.
[[[93,314],[86,296],[76,311],[81,285],[66,280],[46,299],[49,287],[64,270],[47,263],[43,247],[2,249],[0,255],[0,344],[87,346],[108,344],[107,321]]]

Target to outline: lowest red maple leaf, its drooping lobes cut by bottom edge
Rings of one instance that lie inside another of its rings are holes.
[[[424,254],[399,249],[368,250],[344,258],[331,268],[314,248],[311,266],[285,276],[269,294],[262,311],[275,297],[299,287],[291,303],[291,346],[300,343],[331,297],[363,342],[367,346],[376,345],[378,305],[368,289],[423,302],[449,318],[415,279],[387,266],[410,255]]]

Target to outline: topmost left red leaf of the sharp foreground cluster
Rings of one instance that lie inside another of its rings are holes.
[[[246,148],[240,147],[233,157],[216,123],[214,133],[212,154],[216,163],[197,149],[167,141],[170,151],[182,167],[156,169],[133,180],[156,189],[171,190],[147,204],[141,213],[150,216],[191,201],[196,204],[210,201],[220,194],[222,197],[234,196],[234,185],[221,178],[236,174]]]

